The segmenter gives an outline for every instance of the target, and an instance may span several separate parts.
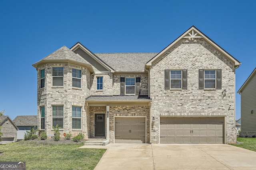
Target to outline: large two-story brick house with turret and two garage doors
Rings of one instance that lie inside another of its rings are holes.
[[[235,143],[240,64],[194,26],[159,53],[63,46],[33,64],[38,127],[112,143]]]

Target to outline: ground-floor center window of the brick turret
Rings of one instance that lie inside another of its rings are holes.
[[[52,106],[52,126],[63,128],[63,106]]]

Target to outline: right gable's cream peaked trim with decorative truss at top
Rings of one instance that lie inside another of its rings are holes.
[[[195,26],[190,27],[186,32],[184,32],[180,37],[178,37],[174,42],[169,44],[164,50],[162,50],[160,53],[158,53],[154,58],[149,60],[146,63],[146,67],[152,66],[152,62],[156,61],[162,54],[165,54],[170,50],[177,42],[179,42],[182,38],[188,38],[189,40],[194,40],[194,38],[204,38],[208,43],[210,43],[212,46],[214,46],[218,51],[220,51],[224,56],[226,56],[228,59],[230,59],[232,62],[234,62],[235,66],[239,66],[241,63],[236,60],[233,56],[231,56],[228,52],[226,52],[223,48],[218,46],[214,41],[212,41],[210,38],[208,38],[206,35],[204,35],[200,30],[198,30]]]

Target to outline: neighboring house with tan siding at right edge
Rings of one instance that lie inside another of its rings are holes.
[[[241,137],[256,136],[256,68],[238,90],[241,95]]]

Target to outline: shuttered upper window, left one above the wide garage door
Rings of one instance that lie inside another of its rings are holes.
[[[187,89],[187,70],[164,70],[164,88]]]

